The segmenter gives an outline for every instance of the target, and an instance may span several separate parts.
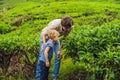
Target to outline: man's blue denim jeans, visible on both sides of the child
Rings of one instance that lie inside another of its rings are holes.
[[[43,44],[42,37],[40,36],[40,49],[41,49],[42,44]],[[53,79],[58,78],[58,75],[59,75],[60,62],[61,62],[61,58],[58,56],[59,48],[60,48],[60,41],[58,40],[56,43],[54,43],[55,62],[54,62],[54,69],[53,69]],[[40,54],[38,57],[38,63],[36,67],[36,78],[39,78],[41,75],[39,58],[40,58]]]

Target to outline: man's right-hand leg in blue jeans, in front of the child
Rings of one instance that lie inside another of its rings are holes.
[[[59,68],[60,68],[60,57],[58,56],[59,48],[60,48],[60,41],[56,42],[54,45],[55,62],[54,62],[54,70],[53,70],[53,79],[58,78],[58,74],[59,74]]]

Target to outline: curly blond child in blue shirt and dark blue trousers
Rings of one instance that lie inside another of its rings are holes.
[[[39,73],[36,74],[37,80],[48,80],[50,61],[54,51],[54,44],[58,41],[59,32],[49,30],[47,36],[49,39],[40,50],[40,57],[37,64],[37,68],[39,68],[37,69]]]

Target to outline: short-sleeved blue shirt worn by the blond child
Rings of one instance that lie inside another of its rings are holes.
[[[48,40],[48,41],[45,43],[43,49],[40,51],[40,60],[41,60],[41,61],[46,62],[44,52],[45,52],[45,49],[46,49],[47,47],[50,47],[50,50],[48,51],[48,59],[49,59],[49,61],[51,61],[52,54],[53,54],[53,45],[54,45],[54,44],[53,44],[53,42],[52,42],[51,40]]]

